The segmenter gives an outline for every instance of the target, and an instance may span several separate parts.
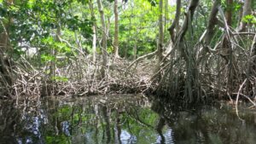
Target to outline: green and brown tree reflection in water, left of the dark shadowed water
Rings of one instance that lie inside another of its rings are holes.
[[[17,109],[6,105],[1,108],[2,140],[14,135],[4,140],[14,141],[11,143],[135,143],[142,138],[148,141],[145,135],[154,141],[158,118],[151,114],[148,101],[137,97],[69,102],[46,99],[26,101]],[[2,124],[6,121],[3,118],[11,119],[7,120],[9,124]]]

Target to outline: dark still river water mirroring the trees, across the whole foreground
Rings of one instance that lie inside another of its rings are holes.
[[[0,101],[0,144],[255,144],[256,110],[139,95]]]

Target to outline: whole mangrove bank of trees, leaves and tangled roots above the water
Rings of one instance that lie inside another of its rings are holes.
[[[255,1],[0,2],[2,99],[143,92],[185,103],[255,100]]]

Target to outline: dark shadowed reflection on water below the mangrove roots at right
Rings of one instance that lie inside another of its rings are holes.
[[[245,121],[241,121],[232,107],[194,108],[181,109],[166,100],[155,100],[152,103],[152,110],[159,113],[160,118],[165,119],[166,125],[172,128],[175,143],[250,144],[256,141],[253,135],[256,130],[253,122],[255,115],[243,114]],[[163,126],[159,124],[161,130]]]

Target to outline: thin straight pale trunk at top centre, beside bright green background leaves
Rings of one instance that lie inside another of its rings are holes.
[[[119,13],[118,13],[118,0],[114,0],[114,37],[113,37],[113,49],[114,57],[119,57]]]

